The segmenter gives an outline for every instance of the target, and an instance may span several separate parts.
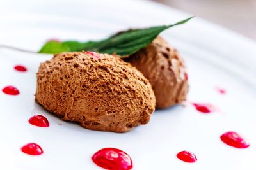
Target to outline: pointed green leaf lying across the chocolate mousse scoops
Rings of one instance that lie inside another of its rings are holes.
[[[116,53],[121,57],[127,57],[132,53],[138,52],[141,48],[150,44],[162,31],[188,22],[193,17],[182,20],[172,25],[163,25],[157,27],[149,27],[145,29],[130,29],[128,31],[119,32],[102,41],[49,41],[41,48],[39,53],[60,53],[60,52],[79,52],[79,51],[95,51],[100,53]]]

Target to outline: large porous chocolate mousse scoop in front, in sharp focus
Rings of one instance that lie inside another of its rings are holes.
[[[147,124],[156,105],[140,71],[116,56],[95,52],[60,53],[40,64],[35,97],[63,120],[112,132]]]

